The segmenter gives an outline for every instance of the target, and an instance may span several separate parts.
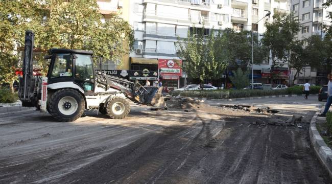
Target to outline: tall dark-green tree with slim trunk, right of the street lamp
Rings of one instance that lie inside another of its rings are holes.
[[[283,66],[289,56],[289,51],[293,46],[295,34],[299,32],[297,20],[292,18],[292,14],[283,16],[273,15],[272,22],[266,22],[266,32],[263,34],[262,43],[271,51],[271,74],[275,67]],[[273,82],[272,75],[272,82]]]

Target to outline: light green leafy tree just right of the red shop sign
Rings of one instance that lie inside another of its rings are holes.
[[[198,78],[200,84],[203,84],[204,79],[220,78],[226,68],[222,53],[215,50],[218,42],[214,32],[211,31],[206,37],[202,32],[198,36],[188,32],[187,38],[178,38],[176,43],[179,46],[179,57],[184,61],[183,70],[189,77]]]

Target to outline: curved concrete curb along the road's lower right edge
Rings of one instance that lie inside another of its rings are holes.
[[[319,134],[316,128],[317,116],[319,110],[316,111],[314,117],[310,122],[310,141],[314,147],[316,156],[319,162],[324,166],[325,170],[328,172],[329,177],[332,179],[332,150],[327,147],[322,136]]]

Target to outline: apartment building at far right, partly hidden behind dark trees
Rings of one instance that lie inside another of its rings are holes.
[[[330,25],[331,19],[327,15],[329,12],[332,12],[332,7],[323,7],[325,2],[326,0],[291,0],[294,18],[298,19],[299,24],[302,26],[297,35],[299,40],[314,35],[324,38],[326,33],[322,32],[322,25]],[[304,42],[303,46],[306,44]],[[292,70],[291,80],[294,79],[295,73],[296,71]],[[327,83],[326,76],[326,71],[317,71],[316,68],[306,66],[299,76],[296,77],[297,80],[294,83],[302,84],[309,80],[312,84],[324,85]]]

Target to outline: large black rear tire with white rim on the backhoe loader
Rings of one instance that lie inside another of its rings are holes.
[[[60,122],[72,122],[84,113],[83,96],[74,89],[59,89],[49,100],[49,112]]]

